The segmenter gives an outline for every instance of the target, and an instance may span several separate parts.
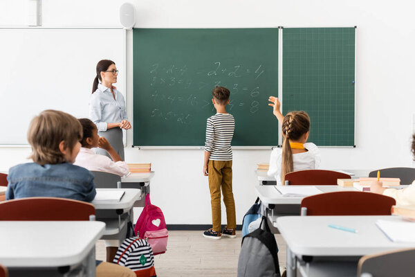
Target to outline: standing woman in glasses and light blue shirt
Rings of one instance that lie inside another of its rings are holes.
[[[116,63],[111,60],[100,60],[96,73],[89,100],[89,118],[97,125],[98,135],[107,139],[124,161],[122,129],[131,129],[131,124],[127,120],[124,96],[113,87],[118,76]],[[111,158],[108,152],[101,148],[96,148],[95,153]]]

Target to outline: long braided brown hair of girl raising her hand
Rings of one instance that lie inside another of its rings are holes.
[[[290,141],[298,141],[309,130],[310,117],[305,111],[291,111],[284,116],[282,121],[282,133],[284,134],[284,142],[282,143],[282,184],[284,184],[285,175],[292,172],[294,168]]]

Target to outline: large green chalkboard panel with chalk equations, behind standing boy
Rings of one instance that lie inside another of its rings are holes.
[[[277,145],[277,70],[278,28],[134,29],[133,145],[204,145],[216,85],[231,92],[232,145]]]

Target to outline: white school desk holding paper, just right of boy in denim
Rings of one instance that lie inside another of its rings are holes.
[[[138,188],[97,188],[100,191],[124,190],[120,202],[91,202],[95,206],[96,220],[105,222],[102,240],[118,240],[122,242],[127,234],[127,223],[133,222],[133,207],[141,197]]]

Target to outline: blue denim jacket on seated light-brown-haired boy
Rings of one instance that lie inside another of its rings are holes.
[[[91,202],[95,184],[89,170],[72,163],[22,163],[10,168],[6,199],[61,197]]]

